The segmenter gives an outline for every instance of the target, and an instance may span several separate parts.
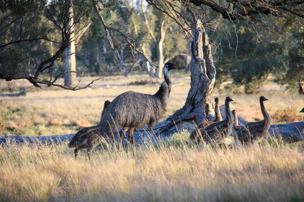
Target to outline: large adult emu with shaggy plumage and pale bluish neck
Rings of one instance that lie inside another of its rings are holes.
[[[129,130],[129,141],[135,146],[134,129],[148,124],[148,129],[153,131],[155,124],[166,112],[167,103],[171,91],[169,71],[177,69],[173,63],[166,63],[164,68],[165,81],[154,94],[144,94],[135,91],[127,91],[118,95],[105,110],[100,120],[99,134],[108,136],[120,132],[120,143]]]

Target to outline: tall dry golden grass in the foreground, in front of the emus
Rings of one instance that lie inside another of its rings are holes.
[[[66,143],[0,147],[1,201],[299,201],[301,145],[212,148],[186,131],[118,152],[112,144],[74,160]]]

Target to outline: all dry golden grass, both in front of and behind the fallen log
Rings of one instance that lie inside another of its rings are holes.
[[[184,76],[173,74],[172,80]],[[85,78],[85,80],[88,78]],[[158,86],[126,84],[145,76],[108,77],[97,86],[80,91],[57,88],[32,89],[26,97],[2,97],[0,134],[56,135],[97,124],[103,103],[127,90],[154,93]],[[189,80],[173,86],[164,118],[183,106]],[[1,81],[6,88],[8,83]],[[27,85],[20,81],[10,87]],[[269,98],[267,109],[280,122],[300,120],[300,96],[284,94],[273,83],[260,94],[230,95],[240,116],[260,120],[258,97]],[[223,104],[225,93],[215,90]],[[287,108],[288,107],[288,108]],[[281,115],[291,117],[279,119]],[[304,200],[303,144],[211,148],[189,142],[181,131],[158,145],[138,146],[118,152],[111,144],[96,148],[92,161],[85,152],[74,160],[66,143],[0,147],[0,201],[302,201]]]

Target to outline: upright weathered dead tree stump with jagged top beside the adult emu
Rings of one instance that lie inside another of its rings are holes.
[[[214,118],[214,107],[211,104],[211,93],[215,81],[211,46],[208,36],[200,21],[196,24],[191,43],[191,88],[184,106],[167,119],[160,130],[165,132],[175,124],[194,119],[201,123]]]

